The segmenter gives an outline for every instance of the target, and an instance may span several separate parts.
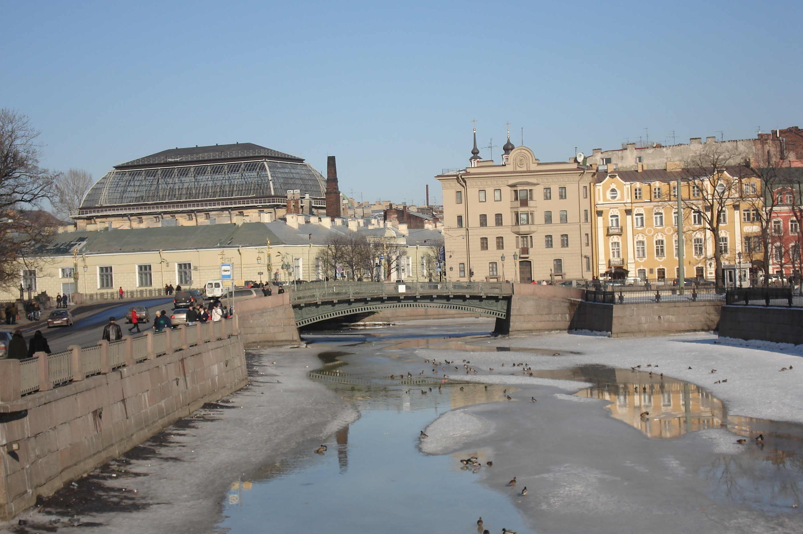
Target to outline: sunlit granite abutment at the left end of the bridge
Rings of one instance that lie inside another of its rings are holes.
[[[275,347],[301,342],[290,293],[243,300],[234,306],[240,336],[248,347]]]

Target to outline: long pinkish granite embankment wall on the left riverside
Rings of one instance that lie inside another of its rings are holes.
[[[226,328],[219,336],[196,332],[198,337],[188,336],[186,328],[173,331],[173,343],[168,337],[166,344],[165,334],[148,336],[147,355],[132,350],[145,345],[130,339],[117,342],[124,344],[120,349],[102,342],[100,357],[96,348],[76,346],[71,367],[65,363],[70,354],[63,353],[0,361],[0,518],[10,519],[38,495],[51,495],[205,402],[246,385],[236,327],[230,337]],[[154,344],[165,353],[160,356]],[[118,350],[124,350],[125,363],[113,369]],[[93,357],[100,361],[100,374],[84,377]],[[65,369],[69,378],[59,383]],[[39,391],[20,397],[37,373]]]

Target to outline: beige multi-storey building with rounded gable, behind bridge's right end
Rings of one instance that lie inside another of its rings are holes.
[[[590,279],[593,170],[503,149],[500,165],[480,160],[475,134],[471,165],[436,177],[446,279]]]

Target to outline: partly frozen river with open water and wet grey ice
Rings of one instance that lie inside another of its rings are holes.
[[[470,357],[457,360],[459,351],[505,350],[471,345],[475,336],[487,343],[487,329],[432,325],[306,336],[320,348],[321,367],[311,379],[336,391],[360,418],[327,438],[322,454],[313,452],[320,442],[306,442],[232,480],[219,527],[801,532],[801,426],[729,416],[705,389],[646,370],[588,365],[536,373],[567,381],[564,389],[442,383],[415,355],[422,345],[440,348],[438,363],[459,366]],[[423,453],[420,431],[449,412],[487,421],[492,432],[463,436],[443,454]],[[759,433],[765,442],[756,442]],[[460,463],[471,456],[482,467]],[[519,483],[512,487],[513,476]]]

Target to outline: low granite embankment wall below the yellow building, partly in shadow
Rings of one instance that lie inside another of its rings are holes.
[[[600,304],[581,302],[572,330],[611,332],[612,337],[707,332],[719,324],[721,301]]]

